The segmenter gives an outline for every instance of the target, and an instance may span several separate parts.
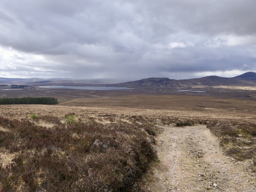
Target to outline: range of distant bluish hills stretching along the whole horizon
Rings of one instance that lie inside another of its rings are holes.
[[[125,83],[113,79],[84,79],[74,80],[67,78],[52,78],[52,79],[22,79],[22,78],[1,78],[0,84],[29,84],[37,86],[38,83],[42,85],[71,85],[71,86],[109,86],[109,87],[129,87],[129,88],[185,88],[193,86],[256,86],[256,73],[248,72],[236,77],[220,77],[220,76],[206,76],[194,79],[175,80],[166,77],[161,78],[147,78],[138,81],[130,81]],[[122,81],[121,81],[122,82]]]

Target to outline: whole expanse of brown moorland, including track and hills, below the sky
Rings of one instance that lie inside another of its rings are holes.
[[[69,80],[22,80],[31,86],[22,90],[1,86],[1,98],[54,97],[59,104],[0,106],[0,188],[253,191],[253,75],[105,84],[134,88],[111,91],[37,85],[88,86]]]

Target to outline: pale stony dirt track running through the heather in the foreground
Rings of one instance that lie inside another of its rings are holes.
[[[156,146],[160,163],[145,191],[256,191],[248,162],[225,156],[205,126],[162,129]]]

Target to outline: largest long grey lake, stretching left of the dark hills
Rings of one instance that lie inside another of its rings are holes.
[[[92,86],[64,86],[64,85],[48,85],[48,86],[38,86],[41,88],[50,88],[50,89],[86,89],[86,90],[124,90],[124,89],[133,89],[126,87],[92,87]]]

